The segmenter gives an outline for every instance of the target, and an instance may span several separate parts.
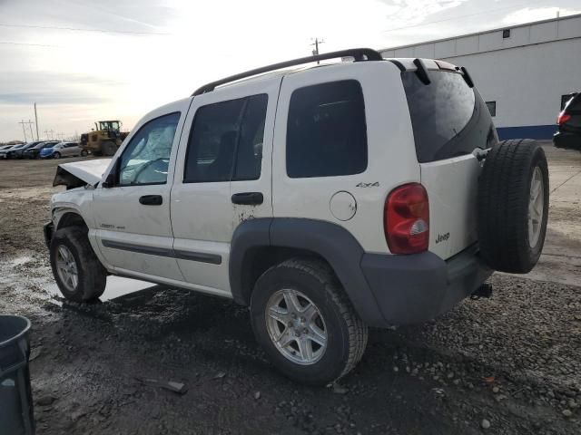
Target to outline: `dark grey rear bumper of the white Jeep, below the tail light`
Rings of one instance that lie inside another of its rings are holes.
[[[365,254],[361,269],[375,296],[369,303],[379,305],[387,324],[433,319],[474,293],[493,272],[478,256],[478,245],[447,261],[431,252]]]

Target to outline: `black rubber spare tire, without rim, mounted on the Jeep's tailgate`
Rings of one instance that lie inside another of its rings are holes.
[[[529,198],[536,169],[543,181],[543,216],[537,242],[529,241]],[[478,241],[491,268],[526,274],[537,264],[547,233],[548,167],[535,140],[503,140],[490,150],[478,181]]]

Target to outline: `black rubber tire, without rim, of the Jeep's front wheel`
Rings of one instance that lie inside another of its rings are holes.
[[[68,288],[57,271],[58,248],[64,246],[74,256],[78,284]],[[90,302],[103,295],[107,284],[107,271],[94,255],[93,247],[82,227],[64,227],[57,230],[51,240],[50,260],[56,284],[65,299],[74,302]]]

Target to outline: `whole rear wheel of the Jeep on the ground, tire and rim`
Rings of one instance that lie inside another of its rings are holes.
[[[310,385],[346,375],[367,345],[367,326],[320,260],[287,260],[261,275],[251,296],[251,321],[275,367]]]

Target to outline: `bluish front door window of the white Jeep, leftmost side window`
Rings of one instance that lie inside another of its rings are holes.
[[[165,184],[180,113],[156,118],[137,131],[119,162],[119,185]]]

